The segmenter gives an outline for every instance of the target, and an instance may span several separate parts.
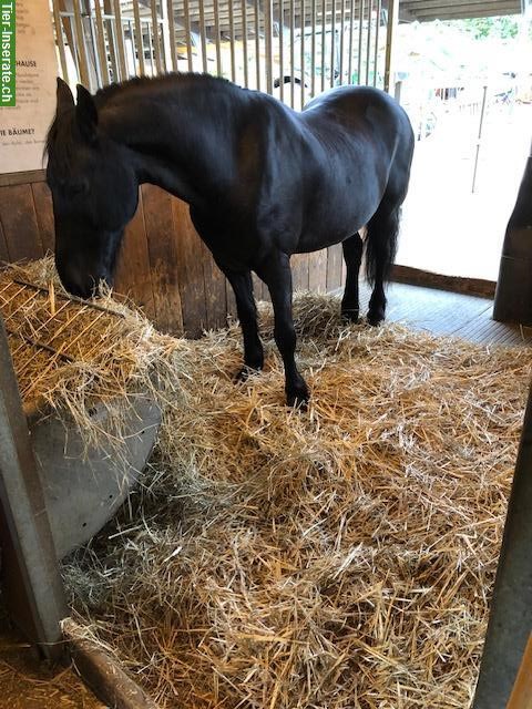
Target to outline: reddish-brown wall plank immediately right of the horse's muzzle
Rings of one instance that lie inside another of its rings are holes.
[[[157,320],[142,191],[139,194],[139,207],[135,216],[125,229],[116,266],[115,289],[130,297],[150,319]]]

